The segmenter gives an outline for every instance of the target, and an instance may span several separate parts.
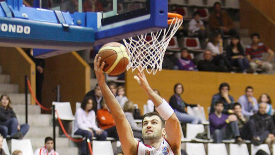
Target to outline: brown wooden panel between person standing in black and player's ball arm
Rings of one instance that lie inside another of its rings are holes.
[[[56,101],[57,85],[60,85],[61,101],[81,102],[90,90],[90,66],[76,53],[66,53],[45,60],[42,103],[50,107]],[[43,111],[45,112],[45,111]]]

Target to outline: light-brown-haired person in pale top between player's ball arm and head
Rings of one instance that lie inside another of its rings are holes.
[[[133,110],[134,110],[134,104],[132,101],[125,102],[123,106],[123,111],[125,113],[125,117],[127,121],[129,122],[134,137],[142,139],[142,127],[138,127],[137,123],[135,122],[134,116],[133,116]]]

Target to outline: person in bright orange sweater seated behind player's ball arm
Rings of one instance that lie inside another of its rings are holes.
[[[108,137],[113,137],[116,140],[119,140],[114,118],[104,100],[101,102],[101,107],[102,109],[98,110],[97,113],[98,127],[106,131]]]

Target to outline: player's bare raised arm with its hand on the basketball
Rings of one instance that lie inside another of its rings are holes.
[[[138,141],[134,138],[131,126],[126,119],[120,104],[118,103],[117,99],[115,98],[115,96],[113,95],[113,93],[108,88],[108,85],[105,82],[105,75],[103,73],[103,67],[105,63],[103,62],[100,65],[100,59],[101,58],[97,54],[94,59],[94,71],[98,79],[98,85],[102,91],[104,100],[115,120],[122,150],[126,155],[136,154]]]

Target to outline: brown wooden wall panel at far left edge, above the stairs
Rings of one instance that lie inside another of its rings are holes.
[[[2,74],[8,74],[11,76],[11,83],[19,85],[19,93],[25,93],[25,75],[27,75],[31,82],[33,92],[36,92],[35,63],[21,48],[1,47],[0,62],[3,66]],[[35,104],[32,97],[31,104]]]

